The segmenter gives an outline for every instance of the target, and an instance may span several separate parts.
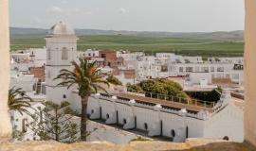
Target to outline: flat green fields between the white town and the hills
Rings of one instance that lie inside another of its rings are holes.
[[[78,50],[115,49],[155,52],[174,52],[190,56],[243,56],[244,42],[210,41],[182,38],[150,38],[124,35],[80,36]],[[12,35],[11,50],[45,46],[43,35]]]

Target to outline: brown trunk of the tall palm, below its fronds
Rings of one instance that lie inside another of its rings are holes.
[[[81,97],[81,140],[86,141],[87,130],[86,130],[86,121],[87,121],[87,103],[88,103],[88,95]]]

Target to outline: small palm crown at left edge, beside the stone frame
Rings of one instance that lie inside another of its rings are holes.
[[[32,99],[26,95],[26,92],[21,88],[15,89],[14,87],[9,90],[8,106],[9,110],[29,113],[27,108],[31,108],[30,102]]]

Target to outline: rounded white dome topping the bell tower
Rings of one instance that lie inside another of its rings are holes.
[[[76,35],[72,27],[70,27],[69,25],[66,25],[64,22],[59,22],[50,28],[47,36],[58,37],[58,36],[76,36]]]

